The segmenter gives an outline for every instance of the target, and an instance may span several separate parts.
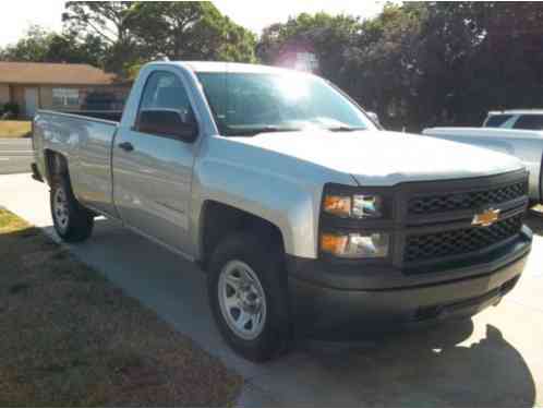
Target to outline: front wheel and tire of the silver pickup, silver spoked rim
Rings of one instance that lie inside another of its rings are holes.
[[[215,321],[236,352],[262,362],[287,349],[288,297],[279,250],[256,234],[228,237],[212,256],[207,287]]]

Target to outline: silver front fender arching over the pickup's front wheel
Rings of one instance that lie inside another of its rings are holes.
[[[215,201],[272,222],[281,232],[288,254],[317,257],[321,200],[326,182],[357,184],[348,173],[279,152],[227,137],[207,137],[193,168],[191,242],[194,253],[202,254],[203,205]]]

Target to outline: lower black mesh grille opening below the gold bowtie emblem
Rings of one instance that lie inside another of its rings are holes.
[[[517,234],[522,215],[500,220],[490,227],[471,227],[407,237],[403,262],[424,262],[481,251]]]

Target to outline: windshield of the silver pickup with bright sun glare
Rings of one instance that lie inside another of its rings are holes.
[[[302,73],[197,74],[221,135],[375,125],[324,80]]]

